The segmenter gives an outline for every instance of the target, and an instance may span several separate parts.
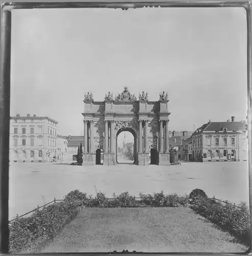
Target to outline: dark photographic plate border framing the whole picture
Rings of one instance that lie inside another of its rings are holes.
[[[66,0],[69,1],[69,0]],[[249,208],[250,223],[252,224],[252,14],[251,3],[243,0],[173,0],[173,1],[85,1],[81,2],[5,2],[1,3],[1,42],[0,42],[0,254],[7,254],[9,247],[9,130],[10,130],[10,83],[11,83],[11,12],[13,9],[61,9],[61,8],[112,8],[128,10],[129,8],[143,7],[240,7],[246,10],[247,20],[247,123],[248,123],[248,173],[249,173]],[[239,86],[239,85],[237,85]],[[250,229],[250,238],[252,238]],[[70,255],[70,254],[108,254],[97,253],[40,253],[46,255]],[[113,253],[116,254],[116,253]],[[138,254],[138,253],[131,253]],[[143,254],[226,254],[232,253],[143,253]],[[251,245],[245,253],[252,254]],[[28,254],[21,254],[28,255]],[[31,255],[31,254],[29,254]]]

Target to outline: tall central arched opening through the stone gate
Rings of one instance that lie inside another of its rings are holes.
[[[120,129],[116,135],[116,163],[137,163],[137,138],[133,129]]]

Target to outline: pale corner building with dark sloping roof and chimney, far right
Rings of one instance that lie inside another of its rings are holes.
[[[246,122],[203,124],[192,135],[192,159],[196,162],[247,161]]]

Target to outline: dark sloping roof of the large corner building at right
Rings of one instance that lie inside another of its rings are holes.
[[[245,130],[245,122],[210,122],[200,127],[203,131],[222,131],[223,128],[228,131],[242,131]]]

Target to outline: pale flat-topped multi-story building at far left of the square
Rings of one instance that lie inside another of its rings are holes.
[[[10,161],[47,162],[57,152],[57,124],[49,117],[10,117]]]

